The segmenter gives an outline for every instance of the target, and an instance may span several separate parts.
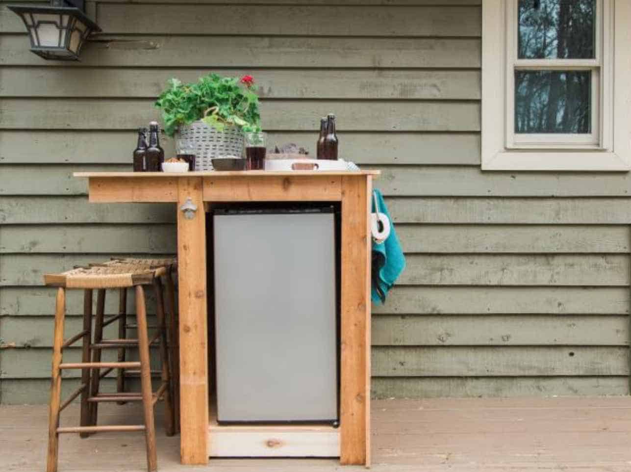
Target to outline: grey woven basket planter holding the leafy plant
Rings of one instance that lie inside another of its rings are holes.
[[[236,126],[227,126],[224,131],[217,131],[203,121],[194,121],[192,124],[180,126],[179,129],[179,138],[186,140],[196,149],[196,171],[213,170],[211,159],[214,157],[241,157],[243,136],[243,131]]]

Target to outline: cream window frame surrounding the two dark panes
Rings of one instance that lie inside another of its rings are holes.
[[[517,2],[482,1],[482,169],[629,171],[631,1],[597,0],[595,59],[516,59]],[[514,133],[516,68],[591,70],[592,133]]]

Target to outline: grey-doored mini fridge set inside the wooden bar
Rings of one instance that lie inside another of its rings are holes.
[[[338,420],[333,207],[213,213],[220,423]]]

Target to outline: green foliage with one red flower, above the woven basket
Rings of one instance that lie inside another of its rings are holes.
[[[259,96],[254,78],[221,77],[209,74],[195,83],[172,78],[155,106],[162,109],[165,133],[173,136],[181,124],[201,119],[218,131],[237,126],[244,131],[261,131]]]

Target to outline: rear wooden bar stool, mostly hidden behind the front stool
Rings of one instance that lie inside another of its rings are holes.
[[[93,263],[91,266],[103,265],[105,267],[130,267],[138,269],[141,267],[149,269],[164,269],[165,275],[162,276],[162,284],[164,287],[164,303],[165,315],[167,318],[168,332],[168,359],[170,361],[170,394],[173,402],[175,417],[175,432],[180,430],[180,351],[179,351],[179,328],[177,320],[177,310],[175,310],[175,283],[174,277],[177,277],[177,258],[112,258],[107,262]],[[134,329],[136,325],[127,323],[127,289],[121,288],[119,294],[119,320],[118,320],[118,337],[125,339],[127,329]],[[119,348],[118,361],[124,362],[126,359],[127,347]],[[123,368],[117,370],[116,375],[116,391],[122,393],[126,391],[125,380],[131,372],[125,372]],[[119,401],[124,404],[125,401]]]

